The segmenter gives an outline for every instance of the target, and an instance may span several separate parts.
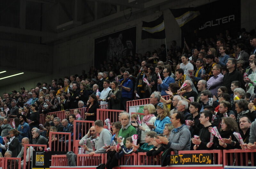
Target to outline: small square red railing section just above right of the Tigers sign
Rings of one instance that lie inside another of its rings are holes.
[[[49,133],[49,147],[51,151],[71,151],[71,142],[72,142],[71,133],[68,133],[68,132],[50,132]]]

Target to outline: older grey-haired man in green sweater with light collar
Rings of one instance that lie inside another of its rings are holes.
[[[127,112],[122,113],[120,120],[122,124],[122,128],[120,129],[118,133],[118,137],[124,138],[124,145],[126,143],[126,138],[127,137],[132,137],[133,134],[137,134],[136,129],[131,125],[130,123],[130,114]]]

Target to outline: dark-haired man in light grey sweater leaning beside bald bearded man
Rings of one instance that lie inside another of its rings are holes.
[[[105,144],[110,145],[112,135],[110,131],[103,128],[103,122],[101,120],[96,120],[94,122],[94,127],[97,133],[100,133],[99,139],[98,139],[98,145],[95,147],[96,151],[90,152],[90,155],[93,156],[95,153],[105,153],[106,149],[103,148]]]

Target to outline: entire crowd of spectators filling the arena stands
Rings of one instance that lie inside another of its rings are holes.
[[[76,139],[82,138],[79,144],[85,153],[108,152],[107,168],[133,151],[156,155],[170,150],[255,149],[256,132],[250,128],[256,125],[254,36],[255,32],[241,29],[237,37],[231,37],[227,31],[215,39],[185,42],[183,49],[172,41],[168,50],[162,45],[144,55],[105,61],[98,69],[91,67],[88,74],[83,70],[80,76],[66,76],[64,81],[52,79],[51,85],[38,82],[30,90],[22,87],[4,93],[0,130],[7,139],[1,144],[2,151],[12,151],[17,157],[24,151],[23,142],[49,144],[49,131],[73,133],[74,120],[95,121],[85,136],[77,134]],[[170,99],[165,100],[164,95]],[[136,115],[125,111],[119,115],[120,122],[112,124],[111,132],[96,119],[99,105],[126,110],[127,101],[143,98],[149,98],[150,104],[144,106],[141,125]],[[85,119],[77,108],[86,108]],[[76,110],[70,114],[69,109]],[[48,116],[60,110],[65,110],[66,119]],[[39,114],[46,118],[40,130]],[[9,124],[10,118],[14,125]],[[214,137],[210,143],[208,129],[214,126],[222,139]],[[233,132],[241,134],[244,145],[239,145]],[[134,134],[138,134],[138,145],[132,144]]]

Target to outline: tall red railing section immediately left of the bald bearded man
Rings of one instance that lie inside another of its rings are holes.
[[[80,139],[76,139],[77,134],[78,136],[80,136],[80,138],[84,137],[85,134],[87,134],[87,132],[90,130],[90,128],[92,126],[94,126],[94,121],[86,121],[86,120],[74,120],[74,138],[73,138],[73,142],[74,142],[74,146],[73,146],[73,151],[75,152],[75,154],[78,154],[78,149],[79,149],[79,141]],[[82,149],[82,148],[81,148]],[[83,150],[82,150],[83,152]]]

